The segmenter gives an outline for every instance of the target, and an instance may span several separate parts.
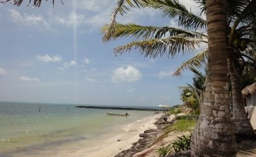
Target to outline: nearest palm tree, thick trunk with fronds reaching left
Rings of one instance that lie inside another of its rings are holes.
[[[140,50],[142,55],[153,58],[158,55],[173,57],[179,52],[185,53],[187,50],[195,50],[196,46],[206,42],[204,34],[188,30],[188,28],[204,28],[206,21],[190,13],[177,1],[151,0],[139,2],[142,7],[161,9],[166,16],[178,17],[179,25],[186,28],[186,30],[169,27],[156,28],[153,26],[121,25],[112,16],[110,25],[105,26],[103,29],[105,31],[103,40],[126,36],[143,39],[115,48],[115,54],[130,52],[132,48],[135,48]],[[191,152],[192,156],[210,156],[212,155],[211,152],[217,153],[218,156],[234,156],[236,153],[236,142],[231,126],[229,99],[226,89],[228,82],[226,75],[228,72],[226,66],[226,10],[221,7],[226,3],[225,1],[212,2],[210,2],[212,5],[207,7],[207,10],[216,14],[207,13],[209,19],[207,21],[209,68],[206,99],[204,99],[202,104],[201,118],[193,134]],[[127,6],[124,8],[127,8]],[[116,12],[114,12],[117,13],[118,10],[122,9],[117,7],[115,9]],[[165,36],[167,33],[170,34],[170,37]]]

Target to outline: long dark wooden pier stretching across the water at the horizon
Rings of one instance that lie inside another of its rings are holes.
[[[101,106],[92,106],[92,105],[76,105],[76,107],[86,108],[86,109],[102,109],[102,110],[142,110],[142,111],[152,111],[152,112],[169,111],[169,108],[150,109],[150,108],[138,108],[138,107],[101,107]]]

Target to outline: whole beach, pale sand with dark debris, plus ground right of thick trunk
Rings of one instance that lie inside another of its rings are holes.
[[[170,115],[167,122],[162,119],[163,113],[152,117],[137,120],[123,128],[124,133],[118,134],[107,140],[102,140],[97,147],[84,148],[78,151],[66,151],[58,156],[66,157],[155,157],[156,150],[162,145],[168,145],[179,136],[188,136],[190,131],[169,132],[164,138],[158,139],[163,134],[163,128],[172,123],[174,115]],[[157,140],[156,140],[157,139]],[[256,156],[255,141],[241,141],[238,144],[236,156]]]

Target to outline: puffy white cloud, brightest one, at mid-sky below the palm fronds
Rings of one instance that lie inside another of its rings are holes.
[[[142,73],[132,66],[119,67],[113,71],[112,80],[113,82],[132,82],[142,78]]]

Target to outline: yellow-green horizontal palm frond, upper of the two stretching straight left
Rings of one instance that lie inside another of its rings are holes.
[[[161,39],[162,37],[166,36],[175,36],[177,34],[186,34],[188,37],[194,37],[194,38],[202,38],[207,37],[203,33],[194,32],[194,31],[187,31],[185,29],[179,29],[174,27],[156,27],[156,26],[140,26],[136,25],[134,23],[129,23],[126,25],[123,25],[121,23],[115,23],[114,31],[110,34],[108,39],[103,40],[115,40],[119,37],[134,37],[134,38],[143,38],[143,39],[149,39],[149,38],[155,38],[155,39]],[[102,28],[102,32],[105,33],[108,30],[109,26],[105,25]]]

